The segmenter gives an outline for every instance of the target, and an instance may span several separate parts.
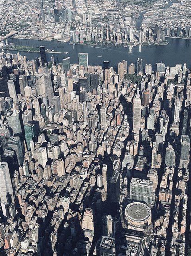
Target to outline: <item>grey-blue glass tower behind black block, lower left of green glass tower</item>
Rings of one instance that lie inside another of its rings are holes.
[[[19,166],[24,162],[23,148],[19,137],[10,137],[7,148],[15,152]]]

